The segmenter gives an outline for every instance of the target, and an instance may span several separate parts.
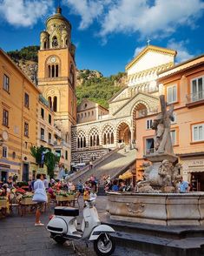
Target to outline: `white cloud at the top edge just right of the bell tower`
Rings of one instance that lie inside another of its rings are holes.
[[[90,24],[93,23],[95,18],[98,18],[103,13],[103,7],[109,0],[104,1],[101,0],[64,0],[63,3],[67,4],[71,11],[76,15],[82,17],[82,21],[80,23],[80,29],[86,29]]]

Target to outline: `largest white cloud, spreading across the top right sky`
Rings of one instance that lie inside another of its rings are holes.
[[[180,25],[194,25],[201,16],[201,0],[155,0],[154,5],[145,0],[121,0],[109,6],[102,21],[100,35],[113,32],[140,32],[141,37],[164,37]]]

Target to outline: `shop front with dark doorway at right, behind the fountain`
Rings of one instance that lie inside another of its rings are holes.
[[[192,191],[204,191],[204,154],[201,156],[181,157],[182,176],[191,184]]]

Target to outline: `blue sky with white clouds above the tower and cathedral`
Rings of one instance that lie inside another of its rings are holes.
[[[39,44],[54,0],[0,0],[0,47],[4,51]],[[104,76],[125,65],[147,45],[178,51],[176,62],[204,53],[203,0],[62,0],[72,24],[78,69]]]

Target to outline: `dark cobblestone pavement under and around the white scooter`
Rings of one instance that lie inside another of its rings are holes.
[[[82,206],[82,200],[80,201]],[[106,197],[97,198],[98,212],[104,212],[106,205]],[[81,207],[82,209],[82,207]],[[42,216],[42,222],[47,224],[49,215],[52,212],[45,212]],[[0,255],[1,256],[95,256],[93,244],[89,243],[89,247],[82,241],[76,242],[77,252],[66,242],[63,246],[59,246],[55,241],[49,238],[44,226],[34,226],[34,213],[20,217],[13,216],[0,219]],[[134,249],[116,245],[113,256],[155,256],[151,253],[141,253]]]

